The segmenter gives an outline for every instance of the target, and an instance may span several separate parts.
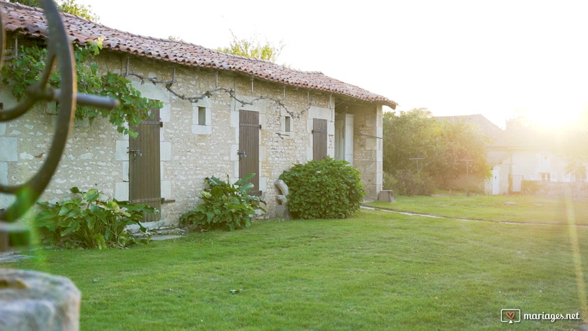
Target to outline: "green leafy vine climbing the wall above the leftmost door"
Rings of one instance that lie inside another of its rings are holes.
[[[163,103],[141,97],[141,92],[131,86],[131,81],[120,74],[98,74],[94,57],[101,49],[101,39],[85,46],[74,46],[78,92],[116,98],[121,101],[121,105],[114,110],[77,106],[76,119],[88,119],[92,123],[102,116],[108,118],[119,132],[136,137],[137,133],[132,128],[152,117],[150,110],[162,108]],[[12,86],[12,94],[20,101],[25,97],[28,86],[39,81],[46,64],[47,49],[34,44],[21,46],[17,54],[3,66],[2,79],[4,84]],[[52,72],[49,85],[59,88],[59,78],[59,72]]]

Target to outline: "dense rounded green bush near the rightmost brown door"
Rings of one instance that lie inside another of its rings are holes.
[[[354,214],[365,195],[360,173],[347,161],[325,158],[296,164],[281,174],[290,212],[301,219],[340,219]]]

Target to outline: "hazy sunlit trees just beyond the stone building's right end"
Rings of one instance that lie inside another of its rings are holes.
[[[486,176],[487,137],[472,124],[435,119],[425,108],[384,114],[384,163],[387,174],[424,172],[447,185],[466,172]],[[419,160],[416,160],[419,159]]]

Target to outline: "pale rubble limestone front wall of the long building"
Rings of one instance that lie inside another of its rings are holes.
[[[327,93],[281,86],[232,72],[170,66],[167,63],[103,52],[101,72],[127,74],[144,97],[163,102],[160,110],[161,221],[174,225],[199,202],[205,177],[236,181],[239,177],[239,110],[259,112],[259,178],[267,217],[272,217],[278,190],[274,181],[296,163],[312,159],[312,120],[327,120],[327,152],[334,157],[334,97]],[[158,81],[141,79],[149,78]],[[166,82],[173,81],[170,92]],[[14,100],[1,89],[5,108]],[[194,102],[179,96],[197,97]],[[46,157],[55,105],[40,106],[25,117],[0,124],[0,182],[30,177]],[[381,107],[354,111],[354,165],[363,172],[368,197],[381,190]],[[107,119],[76,123],[65,154],[41,201],[70,197],[69,188],[97,188],[106,196],[129,198],[129,137]],[[0,208],[10,203],[0,196]]]

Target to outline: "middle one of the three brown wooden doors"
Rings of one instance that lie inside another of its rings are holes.
[[[252,195],[259,195],[259,113],[239,110],[239,178],[254,173]]]

